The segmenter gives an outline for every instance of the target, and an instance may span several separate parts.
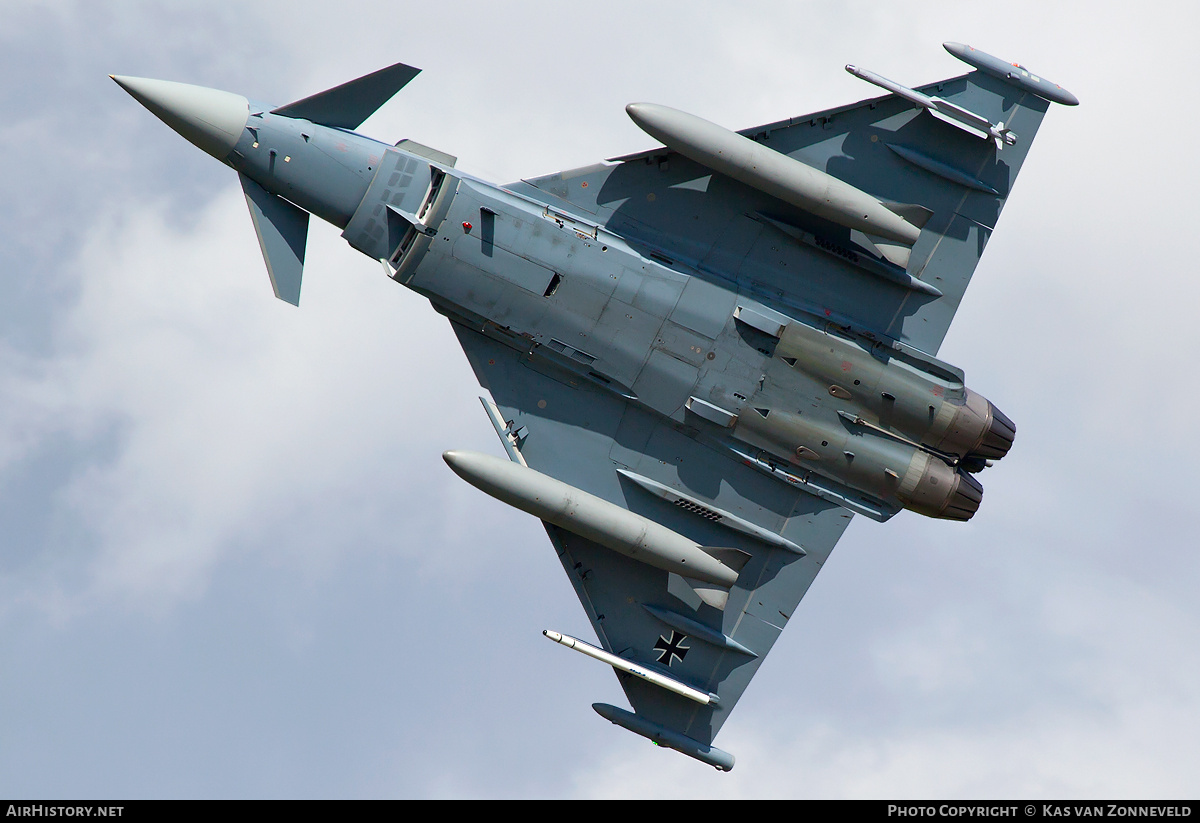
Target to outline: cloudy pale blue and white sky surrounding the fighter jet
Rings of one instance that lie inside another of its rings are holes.
[[[251,6],[247,11],[246,6]],[[103,11],[101,11],[103,7]],[[1196,797],[1200,133],[1188,2],[0,2],[0,795]],[[314,223],[271,298],[233,174],[108,73],[509,181],[917,85],[956,40],[1055,107],[942,356],[1019,426],[967,524],[857,518],[718,744],[656,749],[446,323]],[[1189,228],[1190,227],[1190,228]]]

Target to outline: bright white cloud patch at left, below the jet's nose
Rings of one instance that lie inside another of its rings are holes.
[[[58,318],[56,356],[17,388],[32,437],[112,440],[61,492],[64,516],[97,543],[96,593],[168,606],[203,596],[222,555],[318,505],[335,519],[385,495],[442,510],[431,489],[450,475],[428,459],[424,415],[478,422],[445,322],[347,259],[325,227],[304,310],[271,299],[241,199],[230,186],[186,227],[156,204],[100,224],[79,251],[82,290]],[[412,465],[434,482],[397,468]],[[437,531],[438,519],[418,527]]]

